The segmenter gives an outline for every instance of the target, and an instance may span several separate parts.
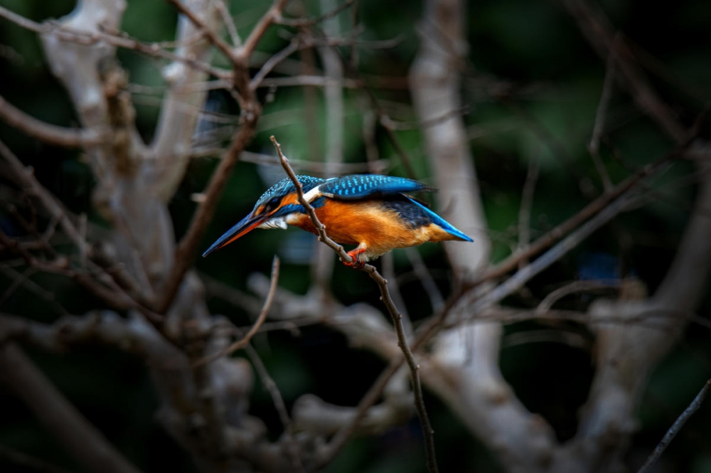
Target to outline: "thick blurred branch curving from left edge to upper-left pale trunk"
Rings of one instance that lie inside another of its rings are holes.
[[[0,117],[11,127],[29,136],[56,146],[68,148],[94,147],[105,142],[105,134],[95,129],[58,127],[27,115],[0,97]]]

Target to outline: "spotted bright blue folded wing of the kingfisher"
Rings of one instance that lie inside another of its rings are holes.
[[[422,182],[404,177],[380,176],[379,174],[353,174],[337,179],[328,179],[319,186],[319,193],[322,196],[342,201],[355,201],[371,196],[423,190],[429,190],[429,188]]]

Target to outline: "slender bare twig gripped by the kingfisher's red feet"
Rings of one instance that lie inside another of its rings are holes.
[[[299,198],[299,203],[301,203],[301,205],[306,208],[307,213],[309,213],[309,218],[311,218],[311,223],[313,223],[314,227],[319,232],[319,240],[321,240],[323,243],[325,243],[334,251],[336,251],[338,256],[341,257],[341,260],[343,260],[344,262],[353,262],[351,256],[346,254],[345,250],[343,250],[343,246],[338,245],[338,243],[331,240],[331,238],[328,238],[328,235],[326,235],[326,228],[324,227],[324,224],[319,221],[319,217],[316,216],[316,211],[313,207],[311,207],[309,202],[306,201],[306,198],[304,198],[304,191],[301,187],[301,183],[299,182],[299,179],[296,178],[294,170],[291,168],[291,166],[289,166],[289,160],[282,153],[282,147],[279,145],[277,139],[275,139],[274,136],[272,136],[271,139],[272,143],[274,143],[274,147],[277,148],[279,158],[282,160],[282,166],[284,166],[284,171],[286,171],[287,175],[289,176],[289,179],[291,179],[294,183],[294,187],[296,188],[296,194]],[[412,354],[412,349],[410,349],[410,345],[407,344],[407,336],[405,334],[405,329],[402,326],[402,315],[397,310],[397,307],[395,307],[395,303],[392,302],[392,297],[390,297],[390,292],[387,289],[387,281],[383,276],[380,275],[378,270],[375,270],[375,267],[373,265],[364,265],[360,270],[363,272],[367,272],[368,275],[370,275],[370,278],[373,279],[378,285],[381,294],[380,299],[385,304],[387,312],[392,318],[392,323],[395,325],[395,332],[397,333],[397,345],[400,346],[402,354],[405,356],[405,360],[407,361],[407,366],[410,367],[412,390],[415,393],[415,408],[417,409],[417,415],[419,415],[419,422],[422,425],[424,445],[425,450],[427,452],[427,469],[430,473],[437,473],[439,470],[437,468],[437,458],[434,454],[434,430],[432,429],[432,425],[430,425],[429,423],[427,409],[424,407],[424,398],[422,396],[422,383],[419,379],[419,365],[417,364],[417,361],[415,361],[415,355]],[[383,385],[383,387],[385,386]]]

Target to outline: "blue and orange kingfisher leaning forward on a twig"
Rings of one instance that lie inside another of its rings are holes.
[[[363,267],[394,248],[445,240],[474,241],[444,218],[429,210],[410,192],[432,191],[422,182],[379,174],[319,179],[296,176],[306,202],[339,245],[357,245],[347,266]],[[218,238],[203,257],[229,245],[255,228],[294,225],[318,235],[306,208],[299,203],[294,182],[282,179],[262,194],[255,208]]]

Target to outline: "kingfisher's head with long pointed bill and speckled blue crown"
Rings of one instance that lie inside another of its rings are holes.
[[[324,179],[311,176],[296,176],[296,179],[299,179],[304,193],[308,193],[324,182]],[[264,192],[249,215],[218,238],[203,253],[203,257],[229,245],[255,228],[286,229],[290,217],[293,218],[299,213],[306,213],[306,209],[299,203],[296,187],[291,179],[282,179]]]

